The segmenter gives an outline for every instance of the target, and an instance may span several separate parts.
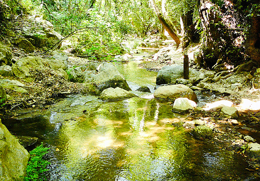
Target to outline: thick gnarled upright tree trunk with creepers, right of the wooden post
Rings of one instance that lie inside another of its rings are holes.
[[[220,40],[218,27],[216,23],[221,19],[218,17],[217,12],[214,11],[213,4],[208,0],[200,0],[200,20],[203,27],[202,34],[202,47],[195,57],[195,62],[204,65],[205,67],[212,68],[219,60],[221,60],[221,47],[223,42]]]

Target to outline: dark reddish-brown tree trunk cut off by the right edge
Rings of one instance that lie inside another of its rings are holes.
[[[251,27],[246,40],[247,55],[260,64],[260,17],[252,17]]]

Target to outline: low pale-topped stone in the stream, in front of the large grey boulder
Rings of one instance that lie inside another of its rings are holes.
[[[103,90],[101,95],[98,97],[98,99],[101,99],[103,101],[109,101],[109,100],[129,99],[132,97],[137,97],[137,96],[119,87],[116,87],[115,89],[110,87],[108,89]]]

